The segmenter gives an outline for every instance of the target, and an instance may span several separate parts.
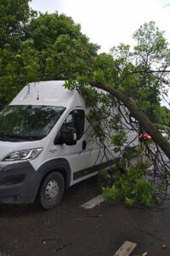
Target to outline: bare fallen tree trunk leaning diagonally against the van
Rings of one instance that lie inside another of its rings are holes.
[[[131,97],[124,95],[121,91],[116,90],[114,87],[107,84],[95,81],[89,81],[89,84],[93,87],[109,92],[112,96],[115,96],[119,101],[121,101],[133,117],[139,121],[139,125],[144,129],[144,131],[147,131],[150,134],[153,141],[161,148],[170,160],[170,143],[167,142],[165,137],[161,136],[161,132],[156,128],[156,125],[146,117]]]

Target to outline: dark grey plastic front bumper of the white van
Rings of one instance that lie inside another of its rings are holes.
[[[0,164],[0,203],[31,203],[37,196],[41,175],[29,161]]]

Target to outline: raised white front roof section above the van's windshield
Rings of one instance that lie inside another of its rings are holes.
[[[65,81],[41,81],[26,84],[10,105],[84,107],[82,96],[77,90],[65,89],[63,84]]]

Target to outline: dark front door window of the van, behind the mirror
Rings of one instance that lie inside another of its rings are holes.
[[[82,109],[75,109],[69,113],[63,125],[74,127],[77,131],[77,140],[79,140],[84,132],[84,120],[84,111]]]

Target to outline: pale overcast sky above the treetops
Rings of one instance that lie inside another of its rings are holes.
[[[133,45],[133,32],[150,20],[170,41],[170,0],[32,0],[30,5],[43,13],[71,16],[101,51],[120,43]]]

